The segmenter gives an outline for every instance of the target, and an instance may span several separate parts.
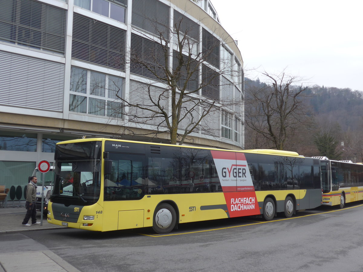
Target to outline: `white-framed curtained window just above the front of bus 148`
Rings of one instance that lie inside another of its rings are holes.
[[[69,111],[122,118],[123,78],[72,67]]]

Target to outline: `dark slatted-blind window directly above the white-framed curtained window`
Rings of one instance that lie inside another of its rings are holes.
[[[125,71],[126,31],[74,13],[72,58]]]

